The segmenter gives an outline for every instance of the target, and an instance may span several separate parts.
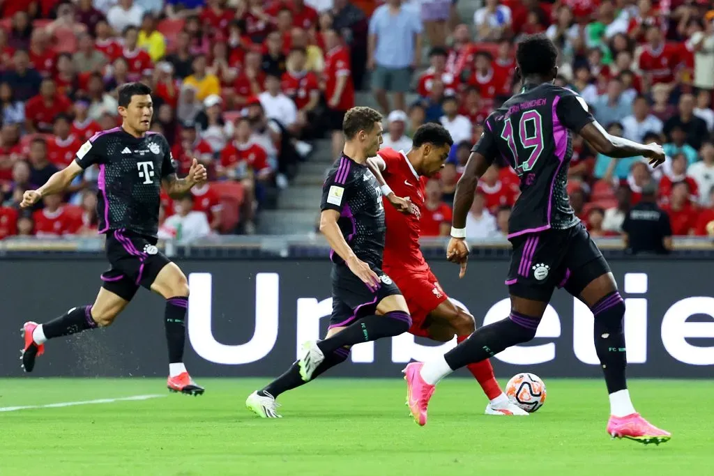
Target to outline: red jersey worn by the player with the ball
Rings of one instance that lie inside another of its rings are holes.
[[[384,180],[397,196],[408,197],[420,212],[424,208],[424,183],[403,153],[392,148],[383,148],[378,153],[386,164],[382,172]],[[423,271],[429,268],[421,250],[420,216],[405,215],[384,199],[384,219],[387,226],[384,242],[384,267]]]

